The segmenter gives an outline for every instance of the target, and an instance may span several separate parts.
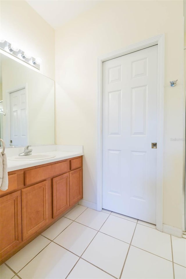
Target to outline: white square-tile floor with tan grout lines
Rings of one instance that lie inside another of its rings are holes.
[[[186,239],[77,205],[0,267],[1,279],[186,278]]]

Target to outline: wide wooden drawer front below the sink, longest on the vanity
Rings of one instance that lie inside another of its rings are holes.
[[[60,162],[50,166],[25,171],[25,185],[30,185],[47,178],[57,176],[69,171],[68,161]]]

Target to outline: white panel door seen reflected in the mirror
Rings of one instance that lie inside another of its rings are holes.
[[[10,93],[10,140],[13,145],[28,144],[25,88]]]

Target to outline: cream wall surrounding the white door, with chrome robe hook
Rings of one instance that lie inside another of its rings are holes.
[[[84,199],[96,203],[97,57],[162,33],[163,223],[181,228],[183,142],[170,138],[183,138],[183,1],[104,1],[56,30],[57,144],[84,145]]]

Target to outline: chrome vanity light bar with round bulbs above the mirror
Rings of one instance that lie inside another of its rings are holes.
[[[0,49],[3,49],[4,51],[40,70],[40,64],[42,62],[41,59],[32,57],[29,53],[22,51],[14,44],[10,44],[5,40],[0,40]]]

